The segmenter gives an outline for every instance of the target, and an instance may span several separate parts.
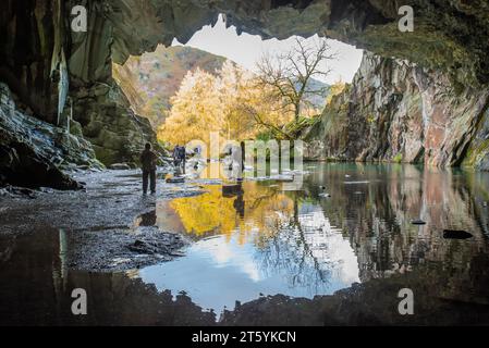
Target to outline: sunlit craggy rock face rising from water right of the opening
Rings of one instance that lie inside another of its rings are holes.
[[[482,169],[488,97],[488,88],[456,91],[439,72],[365,53],[352,85],[304,134],[306,154],[448,166],[461,164],[474,148],[473,164]]]

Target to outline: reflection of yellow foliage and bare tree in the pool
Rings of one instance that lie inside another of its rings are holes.
[[[304,229],[299,196],[289,197],[252,182],[243,184],[243,195],[239,197],[223,197],[217,185],[206,189],[205,195],[178,198],[170,203],[187,233],[197,237],[223,234],[228,240],[237,234],[239,244],[256,246],[255,258],[261,272],[286,275],[291,287],[308,287],[313,294],[328,285],[331,262],[321,257],[325,248],[311,246],[306,237],[322,231]],[[243,214],[236,207],[244,210]]]

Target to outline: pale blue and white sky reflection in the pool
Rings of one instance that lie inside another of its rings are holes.
[[[303,204],[301,209],[302,240],[316,259],[316,266],[311,257],[305,259],[299,271],[296,264],[288,266],[288,260],[294,261],[304,251],[297,247],[301,244],[296,243],[297,229],[279,234],[274,240],[281,250],[279,254],[273,253],[276,245],[271,240],[264,249],[253,238],[240,244],[236,232],[230,239],[224,236],[201,239],[188,247],[185,257],[146,268],[140,276],[159,290],[170,289],[173,295],[185,290],[195,303],[217,312],[224,306],[233,308],[236,300],[246,302],[260,294],[313,298],[358,282],[357,261],[349,241],[330,226],[320,207]],[[316,268],[327,272],[325,281],[314,277]],[[308,282],[296,282],[297,275]]]

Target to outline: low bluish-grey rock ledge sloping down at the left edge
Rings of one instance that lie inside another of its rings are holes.
[[[62,170],[102,167],[87,140],[20,112],[4,84],[0,98],[0,185],[77,189]]]

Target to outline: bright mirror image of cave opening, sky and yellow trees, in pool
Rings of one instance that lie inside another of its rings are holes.
[[[245,182],[223,197],[206,194],[157,206],[161,229],[176,228],[196,243],[185,257],[143,269],[144,282],[184,290],[216,312],[259,296],[313,298],[359,282],[356,256],[319,201],[303,200],[271,183]]]

